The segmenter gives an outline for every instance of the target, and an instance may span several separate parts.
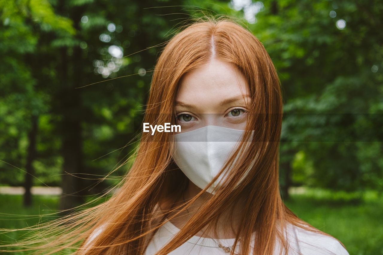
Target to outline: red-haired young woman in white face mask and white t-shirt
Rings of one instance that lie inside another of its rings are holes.
[[[155,66],[144,123],[181,130],[142,132],[118,193],[69,218],[68,233],[40,249],[348,254],[283,204],[280,83],[264,47],[242,26],[200,20],[175,35]]]

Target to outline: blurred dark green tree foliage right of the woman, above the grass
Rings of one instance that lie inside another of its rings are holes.
[[[383,3],[263,4],[250,28],[264,43],[282,82],[282,176],[286,165],[297,166],[297,157],[287,156],[295,150],[306,160],[299,184],[381,190],[383,31],[377,28],[383,23]]]

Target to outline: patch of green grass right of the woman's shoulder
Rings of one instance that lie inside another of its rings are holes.
[[[291,195],[286,206],[298,217],[342,242],[350,255],[383,254],[383,199],[360,194],[308,189]]]

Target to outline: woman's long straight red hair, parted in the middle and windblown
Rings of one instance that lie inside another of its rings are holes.
[[[171,252],[206,226],[216,227],[217,219],[231,210],[244,194],[246,200],[234,244],[241,243],[240,254],[271,255],[276,247],[280,247],[279,254],[287,254],[287,224],[327,235],[301,221],[281,199],[278,183],[282,126],[280,82],[264,46],[247,29],[226,18],[208,19],[198,20],[176,34],[155,65],[144,122],[174,123],[174,102],[180,79],[212,57],[237,67],[249,85],[252,100],[246,136],[237,149],[241,157],[225,180],[225,188],[217,190],[157,254]],[[252,130],[255,132],[250,140]],[[134,163],[119,191],[94,208],[61,219],[59,223],[65,223],[62,228],[68,232],[56,235],[39,249],[53,253],[74,248],[74,253],[80,255],[143,254],[155,231],[166,219],[178,215],[170,216],[169,212],[184,208],[172,206],[188,183],[172,160],[172,145],[171,133],[143,132]],[[226,166],[232,164],[233,159],[234,156]]]

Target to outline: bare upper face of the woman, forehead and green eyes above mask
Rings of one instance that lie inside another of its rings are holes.
[[[234,65],[213,59],[180,82],[175,113],[181,132],[204,126],[245,129],[251,103],[245,77]]]

